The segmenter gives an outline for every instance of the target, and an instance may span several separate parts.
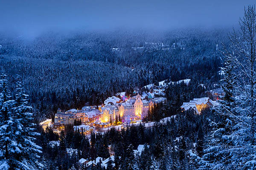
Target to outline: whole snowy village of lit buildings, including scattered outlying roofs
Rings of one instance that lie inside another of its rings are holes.
[[[146,85],[144,90],[149,91],[148,93],[143,91],[140,94],[140,90],[137,90],[128,95],[126,92],[121,92],[116,94],[116,96],[108,97],[102,105],[84,106],[80,110],[73,108],[68,111],[62,111],[61,108],[58,108],[53,119],[47,119],[41,122],[41,125],[44,130],[51,128],[54,133],[58,134],[61,134],[61,132],[64,132],[67,128],[73,128],[72,130],[74,132],[85,135],[87,138],[90,138],[92,134],[107,132],[111,130],[111,128],[122,130],[131,125],[151,127],[155,122],[148,121],[147,117],[154,107],[166,102],[165,91],[167,86],[170,83],[184,83],[188,85],[189,82],[190,79],[179,80],[177,82],[167,82],[164,80],[159,82],[158,85]],[[199,86],[205,88],[203,84]],[[218,106],[217,100],[222,98],[224,91],[221,88],[217,88],[207,92],[212,99],[209,97],[195,98],[184,102],[183,105],[180,106],[181,110],[201,114],[206,108]],[[164,123],[172,117],[161,119],[160,122]],[[55,145],[59,146],[60,141],[51,141],[50,145],[52,147]],[[139,144],[137,150],[133,150],[134,155],[140,155],[145,147],[149,147],[149,145]],[[67,148],[67,152],[72,155],[76,150]],[[104,168],[107,168],[110,164],[114,167],[115,157],[114,151],[111,150],[111,145],[108,146],[108,152],[110,157],[107,159],[103,159],[100,156],[95,160],[81,158],[78,162],[80,169],[96,166],[96,164],[100,164]]]

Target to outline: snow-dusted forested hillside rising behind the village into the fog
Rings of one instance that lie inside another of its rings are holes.
[[[99,105],[165,79],[209,87],[221,76],[218,48],[225,36],[223,30],[48,33],[33,40],[0,35],[0,68],[11,82],[19,75],[41,119],[58,107]]]

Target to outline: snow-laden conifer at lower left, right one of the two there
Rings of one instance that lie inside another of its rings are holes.
[[[9,158],[9,165],[14,170],[34,170],[43,165],[37,163],[41,153],[41,147],[35,143],[35,132],[32,108],[28,106],[27,95],[24,94],[21,83],[18,82],[15,88],[15,103],[12,108],[14,140],[11,145],[12,155]]]

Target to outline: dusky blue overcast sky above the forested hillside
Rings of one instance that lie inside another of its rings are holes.
[[[0,0],[0,31],[232,27],[255,0]]]

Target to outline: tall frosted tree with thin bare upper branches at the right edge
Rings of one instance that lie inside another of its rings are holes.
[[[244,8],[239,34],[230,37],[232,60],[235,64],[234,96],[236,96],[233,132],[224,136],[233,147],[231,161],[236,169],[256,169],[256,11],[255,6]],[[237,114],[236,114],[237,113]]]

